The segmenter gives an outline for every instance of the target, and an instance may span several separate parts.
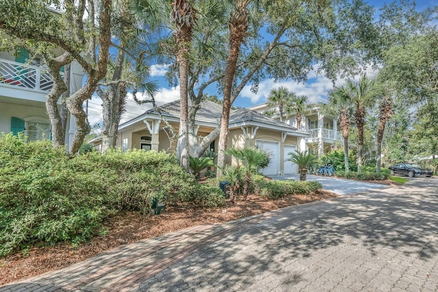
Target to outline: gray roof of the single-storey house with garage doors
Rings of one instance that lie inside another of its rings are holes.
[[[179,118],[179,104],[179,101],[167,103],[166,105],[159,107],[159,111],[161,111],[161,114],[164,117]],[[149,111],[146,111],[145,114],[159,115],[159,112],[157,109],[149,109]],[[222,105],[218,105],[217,103],[211,101],[203,101],[201,103],[201,109],[199,109],[196,113],[195,120],[196,122],[218,124],[220,116],[222,116]],[[285,124],[284,122],[279,122],[278,120],[268,118],[257,111],[253,111],[252,109],[231,109],[229,121],[230,127],[233,127],[233,125],[237,126],[238,124],[242,123],[250,124],[251,122],[255,122],[257,124],[266,124],[267,126],[271,127],[279,127],[289,131],[296,131],[295,127],[289,126],[289,124]]]

